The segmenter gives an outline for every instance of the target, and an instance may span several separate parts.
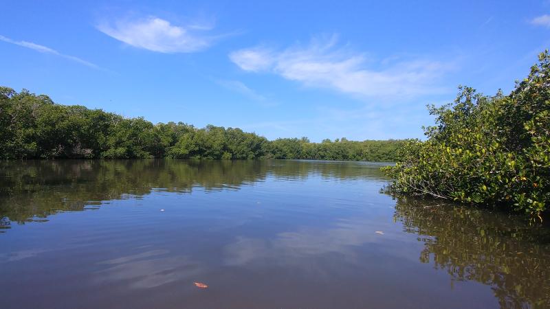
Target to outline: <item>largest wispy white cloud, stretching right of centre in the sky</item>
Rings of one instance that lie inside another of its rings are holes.
[[[437,80],[449,65],[432,60],[407,60],[391,65],[366,64],[363,54],[338,47],[336,36],[283,50],[252,47],[232,52],[230,60],[244,71],[275,73],[309,87],[325,87],[366,97],[404,97],[446,91]]]

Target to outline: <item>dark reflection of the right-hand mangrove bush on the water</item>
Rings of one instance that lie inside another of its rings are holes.
[[[550,233],[502,211],[397,198],[394,220],[423,242],[421,263],[492,287],[501,308],[550,308]]]

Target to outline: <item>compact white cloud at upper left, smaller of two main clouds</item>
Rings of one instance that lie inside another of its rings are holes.
[[[190,53],[206,49],[213,38],[203,36],[211,25],[171,25],[164,19],[150,16],[145,19],[123,19],[100,23],[98,30],[133,47],[162,53]]]

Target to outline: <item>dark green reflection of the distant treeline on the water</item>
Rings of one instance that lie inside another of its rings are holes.
[[[112,160],[0,161],[0,227],[10,221],[39,220],[60,210],[82,210],[94,201],[150,194],[239,189],[265,180],[383,178],[377,163],[350,162]]]

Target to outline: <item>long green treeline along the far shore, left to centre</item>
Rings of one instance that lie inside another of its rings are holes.
[[[320,159],[395,161],[404,141],[311,143],[269,141],[239,128],[153,124],[85,106],[54,103],[47,95],[0,87],[1,159]]]

